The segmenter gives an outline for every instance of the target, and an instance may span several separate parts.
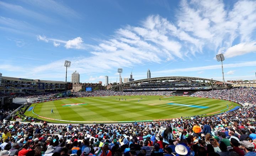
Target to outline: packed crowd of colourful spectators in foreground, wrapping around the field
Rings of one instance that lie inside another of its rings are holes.
[[[192,96],[246,103],[219,115],[131,124],[1,123],[0,155],[256,155],[256,90],[199,91]],[[168,95],[172,91],[74,93],[75,96]],[[8,114],[10,111],[2,110]],[[148,151],[147,151],[148,149]]]

